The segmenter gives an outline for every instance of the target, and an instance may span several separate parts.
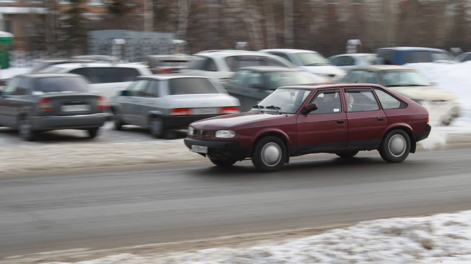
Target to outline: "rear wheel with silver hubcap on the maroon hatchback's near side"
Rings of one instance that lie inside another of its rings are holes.
[[[407,158],[411,149],[411,140],[406,131],[394,129],[384,136],[379,152],[383,160],[401,162]]]

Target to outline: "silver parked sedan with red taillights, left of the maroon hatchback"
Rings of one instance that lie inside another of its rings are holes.
[[[111,101],[116,129],[138,125],[156,138],[196,120],[240,112],[239,106],[239,100],[211,78],[173,74],[140,76]]]

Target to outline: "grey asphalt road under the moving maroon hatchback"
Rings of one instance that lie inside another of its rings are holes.
[[[244,161],[3,176],[0,257],[470,209],[470,160],[462,148],[400,164],[309,155],[268,174]]]

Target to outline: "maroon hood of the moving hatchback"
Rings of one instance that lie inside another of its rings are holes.
[[[243,112],[230,115],[222,115],[218,117],[212,117],[200,121],[193,122],[191,126],[196,129],[207,129],[207,130],[218,130],[228,129],[235,125],[240,125],[246,122],[252,122],[257,120],[264,120],[268,118],[279,118],[283,115],[267,112]]]

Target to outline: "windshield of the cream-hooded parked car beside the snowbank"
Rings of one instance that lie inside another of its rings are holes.
[[[384,86],[430,86],[430,82],[414,70],[386,70],[382,73]]]

